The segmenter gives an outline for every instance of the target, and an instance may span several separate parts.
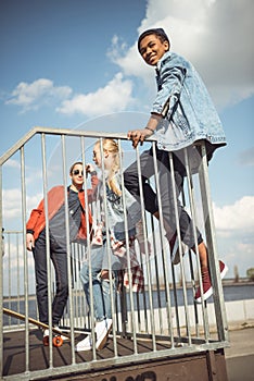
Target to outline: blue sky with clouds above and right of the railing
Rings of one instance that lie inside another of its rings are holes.
[[[125,111],[149,116],[154,73],[136,41],[162,26],[221,118],[228,145],[209,165],[218,247],[229,275],[234,265],[245,275],[254,267],[253,11],[252,0],[0,0],[0,156],[37,125],[77,128]]]

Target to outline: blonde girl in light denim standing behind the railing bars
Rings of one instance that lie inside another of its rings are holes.
[[[110,278],[113,280],[113,291],[116,290],[116,280],[129,287],[127,271],[126,235],[128,237],[129,258],[131,265],[131,287],[135,292],[143,291],[143,273],[135,253],[136,225],[140,221],[140,205],[126,188],[122,188],[120,157],[118,144],[114,139],[98,140],[93,147],[93,161],[101,171],[104,171],[99,184],[98,197],[100,220],[91,249],[90,262],[85,262],[80,271],[80,279],[88,305],[90,306],[89,267],[92,273],[92,295],[96,317],[96,348],[101,349],[112,328],[112,306],[110,294]],[[126,211],[124,210],[123,194]],[[106,223],[105,223],[105,216]],[[127,221],[125,221],[127,216]],[[105,230],[105,225],[109,232]],[[128,234],[126,234],[126,232]],[[109,234],[106,234],[109,233]],[[111,251],[109,255],[106,236],[110,235]],[[109,266],[109,259],[111,258]],[[110,272],[112,276],[110,276]],[[119,276],[120,275],[120,276]],[[91,336],[79,342],[76,351],[90,351]]]

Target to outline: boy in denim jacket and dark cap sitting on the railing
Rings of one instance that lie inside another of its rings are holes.
[[[128,138],[132,140],[132,146],[136,148],[139,143],[142,145],[147,137],[152,136],[156,132],[156,159],[160,173],[163,221],[173,256],[173,251],[176,251],[175,246],[178,244],[178,239],[168,152],[173,152],[174,175],[178,197],[182,190],[183,176],[186,175],[181,149],[188,147],[188,150],[191,151],[191,157],[193,159],[199,157],[200,160],[199,149],[193,144],[196,144],[198,140],[204,140],[207,159],[211,160],[214,150],[226,145],[226,138],[218,114],[200,75],[189,61],[170,52],[169,48],[168,36],[162,28],[148,29],[138,39],[138,49],[144,62],[155,67],[157,95],[147,126],[142,130],[129,131]],[[152,148],[141,155],[140,164],[145,209],[158,218],[156,195],[147,182],[148,179],[154,175]],[[132,195],[139,197],[136,162],[125,171],[125,186]],[[190,249],[196,251],[192,220],[179,200],[177,209],[181,241]],[[200,231],[196,228],[195,231],[201,262],[203,297],[206,300],[213,293],[207,249]],[[179,262],[179,259],[173,258],[173,262],[176,265]],[[224,278],[227,267],[223,261],[219,261],[219,269],[221,278]],[[201,303],[200,288],[195,294],[195,302]]]

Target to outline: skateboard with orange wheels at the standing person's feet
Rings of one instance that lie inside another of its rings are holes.
[[[5,315],[9,315],[13,318],[16,318],[16,319],[20,319],[20,320],[26,320],[26,316],[23,315],[23,314],[18,314],[16,311],[13,311],[12,309],[8,309],[8,308],[3,308],[3,314]],[[35,324],[39,328],[42,328],[42,329],[47,329],[49,330],[50,327],[46,323],[42,323],[41,321],[39,320],[36,320],[36,319],[33,319],[33,318],[29,318],[28,317],[28,321],[31,323],[31,324]],[[64,337],[67,337],[67,339],[71,339],[71,334],[68,333],[65,333],[65,332],[62,332],[60,330],[58,330],[56,328],[52,327],[52,333],[54,333],[54,336],[52,339],[52,344],[53,346],[62,346],[63,345],[63,339],[62,336]],[[49,346],[49,336],[45,336],[43,337],[43,345],[45,346]]]

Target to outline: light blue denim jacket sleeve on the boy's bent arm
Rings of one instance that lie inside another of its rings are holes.
[[[163,116],[170,115],[180,98],[182,85],[186,78],[187,67],[183,61],[176,57],[168,57],[162,62],[157,71],[157,95],[153,102],[151,113]]]

